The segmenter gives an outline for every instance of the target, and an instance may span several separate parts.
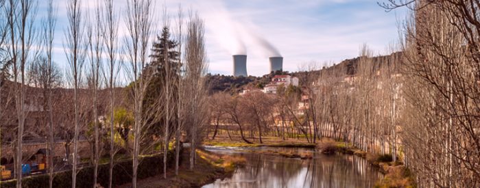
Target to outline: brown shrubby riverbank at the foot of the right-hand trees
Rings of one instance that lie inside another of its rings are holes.
[[[374,155],[350,146],[350,144],[345,144],[345,142],[336,142],[333,139],[326,138],[318,143],[318,148],[326,155],[334,154],[335,152],[357,155],[378,167],[385,174],[385,177],[376,183],[375,187],[416,187],[410,170],[403,163],[393,162],[390,155]]]

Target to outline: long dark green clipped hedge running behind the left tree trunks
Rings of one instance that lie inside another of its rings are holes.
[[[180,155],[181,157],[181,155]],[[170,151],[167,155],[167,161],[170,161],[168,167],[173,165],[175,153]],[[180,160],[182,161],[182,160]],[[163,155],[152,155],[142,157],[139,160],[137,178],[143,179],[156,176],[163,172]],[[108,174],[110,164],[104,163],[98,166],[97,182],[102,187],[108,187]],[[112,186],[123,185],[132,181],[132,159],[118,161],[113,167]],[[16,180],[2,181],[0,187],[15,187]],[[77,174],[77,187],[93,187],[93,166],[83,167]],[[22,187],[49,187],[49,175],[41,174],[37,176],[28,176],[22,178]],[[53,177],[53,187],[71,187],[71,170],[56,172]]]

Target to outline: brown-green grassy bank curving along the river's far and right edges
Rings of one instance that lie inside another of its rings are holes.
[[[217,136],[216,139],[205,139],[204,146],[220,147],[285,147],[285,148],[315,148],[324,155],[357,155],[366,159],[370,165],[379,169],[384,174],[384,178],[375,184],[375,187],[416,187],[415,178],[411,171],[399,161],[392,162],[391,155],[375,155],[371,152],[365,152],[346,144],[345,142],[335,141],[331,138],[322,138],[317,144],[307,143],[303,139],[282,139],[279,137],[263,137],[263,144],[247,144],[229,139],[228,137]],[[276,150],[253,150],[251,152],[263,155],[275,155],[287,158],[312,159],[313,155],[306,152],[280,152]]]

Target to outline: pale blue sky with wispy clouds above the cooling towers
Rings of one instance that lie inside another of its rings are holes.
[[[67,68],[63,49],[67,1],[54,1],[58,6],[54,59]],[[83,0],[83,11],[93,10],[96,1]],[[45,14],[46,3],[42,2],[37,19]],[[125,2],[115,0],[118,12]],[[376,54],[387,54],[407,14],[402,9],[385,12],[375,0],[165,0],[154,4],[157,28],[163,23],[163,5],[172,17],[180,4],[186,14],[198,12],[206,26],[208,72],[220,75],[232,75],[235,54],[248,55],[248,74],[254,76],[269,73],[268,57],[277,55],[284,58],[283,70],[295,72],[307,64],[331,66],[357,57],[363,44]],[[126,34],[124,27],[121,18],[119,36]]]

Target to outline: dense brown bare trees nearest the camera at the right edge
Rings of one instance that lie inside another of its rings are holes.
[[[422,187],[479,187],[480,1],[387,1],[407,6],[405,113],[400,134]]]

